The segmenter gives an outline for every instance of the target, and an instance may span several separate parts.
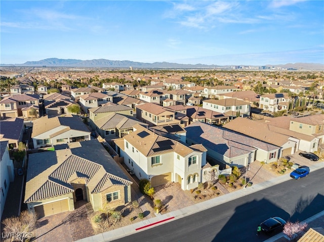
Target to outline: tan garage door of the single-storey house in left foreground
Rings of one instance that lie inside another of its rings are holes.
[[[69,211],[69,203],[67,199],[60,200],[53,203],[47,203],[34,207],[38,218],[54,215]]]

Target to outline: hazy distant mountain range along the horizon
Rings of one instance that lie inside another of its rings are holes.
[[[133,61],[111,61],[106,59],[75,60],[49,58],[41,61],[27,61],[23,64],[0,64],[3,67],[84,67],[84,68],[140,68],[140,69],[230,69],[231,66],[205,65],[205,64],[178,64],[170,62],[143,63]],[[250,66],[250,65],[241,65]],[[251,66],[258,67],[258,66]],[[318,63],[288,63],[283,65],[265,65],[268,68],[324,70],[323,64]],[[256,68],[253,68],[256,69]]]

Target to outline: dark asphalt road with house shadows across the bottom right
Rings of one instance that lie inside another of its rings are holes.
[[[288,180],[214,208],[114,241],[264,241],[256,226],[271,216],[303,221],[324,210],[319,169],[301,180]]]

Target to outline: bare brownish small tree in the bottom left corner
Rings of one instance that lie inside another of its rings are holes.
[[[2,222],[4,234],[10,234],[10,241],[25,241],[31,237],[31,232],[36,225],[37,216],[35,213],[24,210],[19,217],[6,218]],[[13,235],[13,237],[12,237]],[[22,236],[23,235],[23,236]]]

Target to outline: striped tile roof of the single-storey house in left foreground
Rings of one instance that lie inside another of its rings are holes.
[[[98,140],[80,144],[78,148],[29,156],[25,203],[73,192],[70,182],[76,178],[84,178],[91,193],[100,192],[111,185],[132,184]]]

